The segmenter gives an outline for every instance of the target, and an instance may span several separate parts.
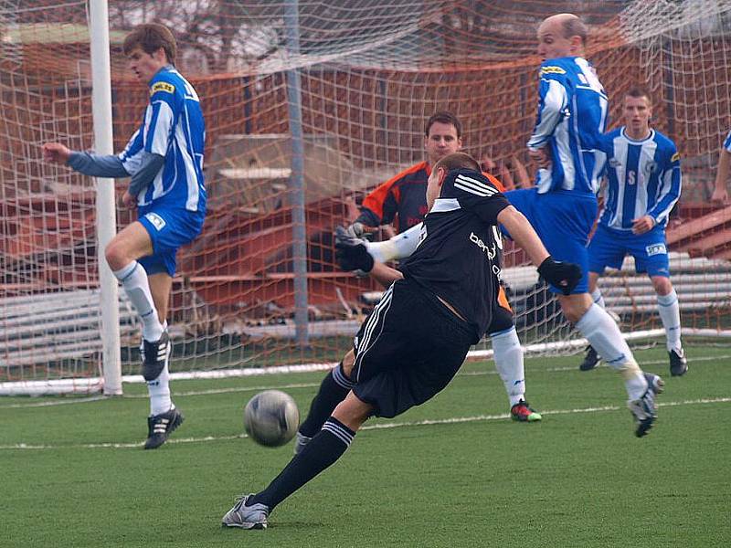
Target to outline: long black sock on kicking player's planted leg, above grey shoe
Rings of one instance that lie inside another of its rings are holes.
[[[271,480],[269,487],[254,495],[247,505],[261,503],[274,510],[277,504],[340,458],[353,437],[353,430],[331,416],[300,454],[295,455],[280,475]]]

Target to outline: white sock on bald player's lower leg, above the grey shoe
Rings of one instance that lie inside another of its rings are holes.
[[[592,304],[577,321],[577,329],[604,358],[606,364],[620,371],[630,400],[641,397],[647,390],[647,381],[637,366],[630,346],[622,337],[620,328],[607,311],[598,304]]]

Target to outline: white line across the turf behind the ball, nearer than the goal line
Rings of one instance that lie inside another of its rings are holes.
[[[676,407],[676,406],[704,406],[709,404],[727,404],[731,403],[731,397],[714,397],[714,398],[700,398],[693,400],[681,400],[676,402],[662,402],[659,403],[660,407]],[[600,406],[600,407],[583,407],[574,409],[553,409],[548,411],[541,411],[541,415],[574,415],[577,413],[602,413],[619,411],[624,409],[624,406]],[[362,427],[361,430],[383,430],[387,428],[402,428],[402,427],[424,427],[434,425],[453,425],[463,424],[471,422],[485,422],[493,420],[507,420],[510,415],[502,413],[499,415],[476,415],[476,416],[455,416],[450,418],[433,418],[425,420],[416,420],[409,422],[387,422],[377,423],[375,425],[368,425]],[[206,437],[178,437],[167,441],[167,445],[176,444],[188,444],[188,443],[205,443],[208,441],[228,441],[231,439],[241,439],[248,437],[246,434],[238,434],[237,436],[206,436]],[[16,443],[10,445],[0,446],[0,450],[44,450],[44,449],[127,449],[127,448],[142,448],[142,442],[138,443],[90,443],[90,444],[78,444],[78,445],[33,445],[26,443]]]

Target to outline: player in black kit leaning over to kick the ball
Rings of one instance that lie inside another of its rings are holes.
[[[568,292],[581,279],[577,265],[548,255],[525,217],[468,154],[436,163],[427,204],[418,248],[400,271],[374,266],[395,281],[355,337],[353,389],[269,487],[238,498],[224,526],[265,528],[270,511],[334,464],[369,416],[397,416],[450,383],[500,306],[498,225],[550,283]]]

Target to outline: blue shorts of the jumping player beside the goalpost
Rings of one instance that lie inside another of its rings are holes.
[[[140,209],[137,219],[153,241],[153,255],[139,262],[148,275],[166,272],[175,276],[175,254],[178,248],[189,244],[200,234],[206,215],[181,208],[156,207]]]

